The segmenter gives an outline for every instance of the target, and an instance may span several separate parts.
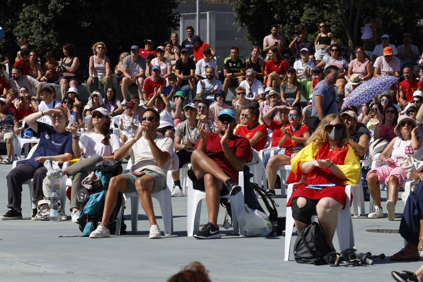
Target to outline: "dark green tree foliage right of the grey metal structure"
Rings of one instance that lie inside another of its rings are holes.
[[[319,22],[325,21],[341,44],[343,52],[352,51],[363,43],[360,40],[366,16],[381,18],[391,44],[402,43],[402,34],[411,33],[413,44],[423,47],[423,19],[421,0],[234,0],[233,9],[240,27],[245,27],[247,38],[253,45],[263,45],[263,38],[270,34],[272,24],[279,25],[279,33],[285,38],[285,46],[297,36],[295,26],[308,27],[308,46],[314,51],[314,40],[319,34]],[[288,51],[288,50],[286,50]]]

